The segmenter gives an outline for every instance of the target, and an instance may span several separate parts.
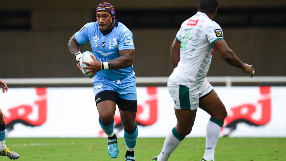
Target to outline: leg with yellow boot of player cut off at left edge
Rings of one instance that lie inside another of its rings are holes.
[[[3,113],[0,109],[0,156],[7,156],[11,160],[18,159],[20,157],[19,154],[10,150],[10,148],[6,147],[5,133],[6,133],[5,121],[4,121]]]

